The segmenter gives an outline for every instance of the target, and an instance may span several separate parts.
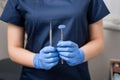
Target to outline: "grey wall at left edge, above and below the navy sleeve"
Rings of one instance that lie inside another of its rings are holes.
[[[3,11],[3,7],[6,0],[0,0],[0,15]],[[8,58],[7,51],[7,24],[0,21],[0,60]]]

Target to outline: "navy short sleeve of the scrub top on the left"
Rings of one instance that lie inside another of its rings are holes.
[[[17,9],[17,5],[18,0],[8,0],[0,19],[8,23],[23,26],[24,20]]]

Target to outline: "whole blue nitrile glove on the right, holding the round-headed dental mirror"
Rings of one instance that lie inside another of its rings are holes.
[[[78,45],[72,41],[59,41],[57,51],[60,58],[65,60],[68,65],[75,66],[84,62],[85,54]]]

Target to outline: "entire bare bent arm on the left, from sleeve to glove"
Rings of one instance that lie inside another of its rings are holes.
[[[27,67],[33,67],[34,53],[23,48],[25,31],[23,27],[8,24],[8,52],[10,59]]]

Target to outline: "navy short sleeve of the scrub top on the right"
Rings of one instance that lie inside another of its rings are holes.
[[[88,9],[88,22],[94,23],[109,13],[103,0],[91,0]]]

